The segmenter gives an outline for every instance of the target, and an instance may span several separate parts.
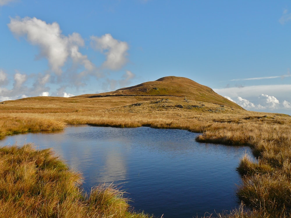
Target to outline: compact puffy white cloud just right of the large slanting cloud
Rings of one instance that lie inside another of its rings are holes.
[[[127,62],[128,44],[114,39],[111,34],[91,36],[91,46],[106,54],[103,66],[108,69],[118,70]]]

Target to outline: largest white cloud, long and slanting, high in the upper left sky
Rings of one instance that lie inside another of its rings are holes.
[[[27,41],[40,48],[40,56],[47,58],[51,69],[57,74],[62,74],[62,69],[68,57],[78,62],[88,70],[93,64],[87,56],[79,52],[79,46],[84,46],[84,40],[79,33],[65,36],[61,34],[58,23],[47,24],[36,17],[10,18],[8,27],[17,37],[26,36]]]

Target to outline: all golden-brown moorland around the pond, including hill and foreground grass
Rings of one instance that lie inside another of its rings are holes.
[[[244,110],[209,87],[182,77],[165,77],[101,94],[71,98],[31,97],[0,103],[2,137],[28,131],[59,130],[68,124],[177,128],[201,133],[196,139],[199,142],[250,146],[258,162],[252,162],[248,156],[244,156],[237,166],[244,181],[237,191],[242,201],[241,208],[211,217],[291,217],[289,115]],[[82,195],[78,188],[80,175],[56,161],[49,150],[36,151],[29,146],[11,149],[4,147],[0,150],[1,183],[7,182],[7,189],[0,190],[0,214],[18,214],[14,217],[19,217],[19,214],[24,217],[69,217],[66,210],[73,211],[81,205],[82,209],[78,211],[83,211],[83,215],[110,217],[109,213],[102,215],[100,212],[102,203],[93,200],[95,203],[91,204],[88,199],[106,192],[104,190],[111,190],[118,201],[124,200],[124,205],[118,207],[127,211],[122,215],[111,211],[111,217],[147,216],[128,213],[127,200],[123,199],[122,192],[112,187],[97,187],[90,195]],[[26,154],[22,156],[17,152]],[[17,155],[13,156],[15,153]],[[46,175],[41,160],[53,160],[48,168],[54,175],[49,172]],[[38,182],[39,178],[44,182]],[[63,182],[65,179],[68,181]],[[58,182],[68,183],[63,191],[60,190],[61,196],[53,193],[52,187],[61,187]],[[18,184],[19,187],[16,186]],[[54,200],[50,203],[45,197]],[[48,207],[42,211],[35,201],[39,201],[39,204],[45,202],[44,205]],[[70,206],[68,202],[71,202]],[[43,215],[40,216],[40,213]]]

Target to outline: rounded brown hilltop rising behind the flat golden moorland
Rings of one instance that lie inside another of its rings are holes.
[[[210,87],[201,85],[191,79],[177,76],[166,76],[156,81],[125,87],[112,92],[100,94],[85,94],[77,97],[109,97],[109,96],[164,96],[181,97],[191,101],[202,101],[242,109],[236,103],[229,101],[214,92]]]

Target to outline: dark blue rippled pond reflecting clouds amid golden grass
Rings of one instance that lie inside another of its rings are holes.
[[[197,133],[175,129],[69,126],[27,133],[0,146],[34,143],[52,147],[91,187],[112,182],[126,190],[135,210],[165,218],[203,216],[238,206],[241,178],[235,170],[248,147],[198,143]]]

